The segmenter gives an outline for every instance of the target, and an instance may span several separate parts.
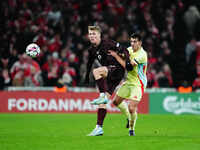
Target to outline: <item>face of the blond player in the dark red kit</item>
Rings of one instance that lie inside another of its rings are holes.
[[[101,41],[101,34],[95,30],[88,31],[88,37],[92,44],[98,45]]]

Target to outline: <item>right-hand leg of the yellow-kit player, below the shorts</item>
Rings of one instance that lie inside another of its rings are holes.
[[[137,120],[137,106],[139,104],[139,101],[130,100],[129,103],[129,112],[131,114],[130,120],[129,120],[129,135],[134,136],[135,135],[135,125]]]

